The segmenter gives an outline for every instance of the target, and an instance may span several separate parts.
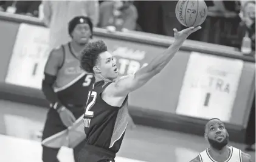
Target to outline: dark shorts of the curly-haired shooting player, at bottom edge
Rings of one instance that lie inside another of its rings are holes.
[[[116,154],[100,147],[86,144],[78,154],[78,162],[114,162]]]

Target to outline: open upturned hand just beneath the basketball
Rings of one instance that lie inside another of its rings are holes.
[[[198,27],[189,27],[186,28],[184,30],[178,31],[176,28],[173,29],[173,31],[175,32],[175,39],[178,41],[183,42],[185,39],[187,39],[187,37],[194,33],[195,31],[198,31],[199,29],[201,29],[200,26]]]

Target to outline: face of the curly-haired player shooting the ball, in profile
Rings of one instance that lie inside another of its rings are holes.
[[[102,74],[102,76],[110,80],[116,79],[118,76],[118,69],[114,56],[106,51],[105,53],[101,53],[99,57],[100,63],[98,66],[100,68],[100,73]]]

